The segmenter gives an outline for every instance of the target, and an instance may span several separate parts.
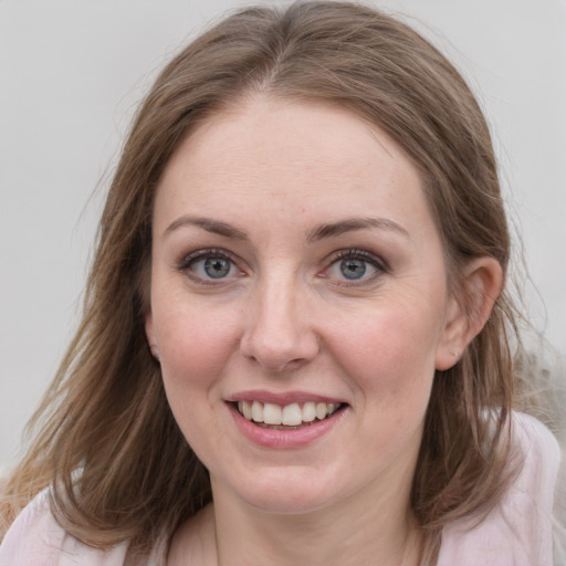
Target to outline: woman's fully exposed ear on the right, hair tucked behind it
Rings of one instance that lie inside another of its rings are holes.
[[[463,271],[463,293],[449,298],[436,368],[446,370],[460,359],[463,350],[480,334],[503,289],[503,270],[493,258],[471,260]]]

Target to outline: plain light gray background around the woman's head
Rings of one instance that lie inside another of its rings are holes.
[[[0,464],[76,324],[136,104],[179,45],[244,3],[0,0]],[[479,94],[534,282],[527,304],[565,353],[566,0],[375,3],[417,18]]]

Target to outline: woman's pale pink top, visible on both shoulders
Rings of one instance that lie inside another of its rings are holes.
[[[437,566],[566,564],[559,562],[564,557],[555,556],[553,562],[558,443],[539,421],[523,413],[514,415],[513,440],[524,454],[516,481],[480,524],[469,518],[444,528]],[[124,543],[107,552],[95,551],[66,534],[53,518],[44,491],[8,531],[0,546],[0,566],[124,566],[126,549]],[[148,566],[163,564],[159,554],[156,549]]]

